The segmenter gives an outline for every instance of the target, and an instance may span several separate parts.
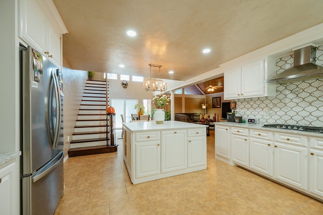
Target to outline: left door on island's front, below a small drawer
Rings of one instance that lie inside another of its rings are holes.
[[[136,178],[160,174],[160,143],[135,143],[136,148]]]

